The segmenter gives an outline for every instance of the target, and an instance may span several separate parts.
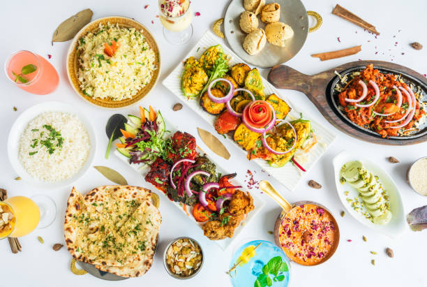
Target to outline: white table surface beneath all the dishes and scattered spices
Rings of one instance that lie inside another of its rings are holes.
[[[63,242],[63,216],[71,186],[43,191],[34,189],[25,182],[15,181],[13,179],[17,175],[10,167],[6,155],[8,131],[21,112],[43,101],[63,101],[75,105],[76,109],[83,110],[93,119],[93,126],[96,128],[98,137],[94,165],[107,165],[115,168],[126,177],[129,184],[144,186],[143,179],[114,155],[111,155],[108,160],[104,159],[107,146],[105,123],[114,112],[89,105],[73,92],[68,83],[65,68],[66,52],[70,42],[54,43],[52,46],[50,43],[52,32],[60,22],[84,8],[93,10],[93,20],[109,15],[124,15],[134,17],[135,20],[142,22],[155,36],[160,46],[162,73],[155,89],[140,104],[150,104],[160,108],[163,115],[171,122],[177,123],[183,131],[197,135],[197,126],[212,131],[211,126],[208,126],[197,115],[192,115],[185,107],[179,112],[173,112],[171,108],[174,103],[177,103],[177,98],[170,94],[160,82],[172,71],[174,66],[180,64],[183,56],[202,36],[204,31],[209,29],[215,20],[223,16],[227,3],[228,1],[220,0],[193,0],[193,12],[198,11],[201,14],[200,17],[195,17],[193,20],[194,36],[187,45],[177,47],[169,45],[163,38],[162,26],[156,18],[158,10],[155,0],[2,1],[0,10],[0,27],[3,31],[0,49],[1,65],[8,55],[16,50],[31,50],[43,57],[52,54],[52,59],[49,61],[57,68],[60,83],[54,93],[47,96],[36,96],[27,94],[15,87],[8,82],[4,74],[0,76],[0,127],[3,131],[3,140],[0,141],[0,186],[8,190],[9,196],[46,194],[54,199],[58,209],[57,219],[52,226],[43,230],[36,230],[20,239],[23,249],[21,253],[11,253],[7,240],[0,242],[0,286],[230,286],[225,271],[230,263],[234,248],[239,243],[251,238],[273,240],[273,235],[270,235],[268,231],[273,230],[274,220],[280,209],[273,200],[265,195],[263,197],[267,205],[241,233],[237,243],[230,246],[227,251],[222,251],[215,243],[204,239],[202,231],[193,226],[186,216],[176,210],[168,200],[165,200],[165,197],[161,196],[160,212],[163,216],[163,223],[160,228],[160,244],[153,267],[144,277],[120,282],[102,281],[91,277],[89,274],[78,277],[69,270],[70,254],[68,251],[65,248],[57,252],[52,250],[54,243]],[[149,7],[144,9],[147,4]],[[320,13],[324,24],[319,31],[308,35],[303,49],[294,59],[287,62],[287,65],[303,73],[314,74],[348,61],[377,59],[392,60],[394,63],[403,64],[421,74],[427,73],[425,21],[427,1],[341,0],[342,6],[357,15],[363,16],[364,20],[375,24],[377,30],[381,32],[377,38],[354,24],[331,15],[331,10],[336,1],[304,0],[304,4],[307,10],[315,10]],[[152,20],[153,24],[151,23]],[[424,49],[421,51],[413,50],[409,46],[409,43],[413,41],[423,43]],[[218,43],[223,43],[223,41],[218,38]],[[315,52],[338,50],[360,44],[362,51],[350,57],[324,62],[310,57],[310,54]],[[264,76],[267,76],[267,73],[267,70],[263,71]],[[425,267],[427,231],[413,233],[407,228],[398,239],[391,240],[369,230],[350,215],[346,214],[343,218],[340,217],[339,214],[343,210],[343,205],[338,199],[331,175],[331,159],[342,149],[368,157],[381,165],[395,179],[400,188],[405,213],[407,214],[415,207],[427,204],[427,198],[414,193],[405,182],[407,167],[415,159],[426,156],[427,143],[407,147],[388,147],[355,140],[331,126],[304,94],[287,90],[282,90],[281,93],[299,107],[304,108],[304,115],[324,124],[338,135],[337,140],[329,147],[326,154],[322,156],[312,170],[307,172],[294,193],[286,191],[278,182],[271,180],[276,188],[283,190],[283,195],[290,202],[314,200],[329,207],[340,226],[341,241],[335,255],[327,263],[316,267],[302,267],[292,264],[291,286],[427,286]],[[13,111],[14,106],[17,107],[17,112]],[[131,112],[135,113],[137,112],[137,105],[119,110],[119,112],[124,115]],[[198,139],[198,137],[196,138]],[[266,174],[260,172],[257,165],[248,163],[230,142],[225,142],[225,140],[223,142],[229,148],[232,157],[229,161],[225,161],[212,155],[218,163],[226,165],[230,171],[239,172],[241,181],[244,181],[248,168],[255,170],[255,179],[257,180],[267,177]],[[199,141],[199,144],[202,148],[204,147],[202,142]],[[395,156],[400,160],[400,163],[389,163],[386,160],[387,156]],[[310,189],[306,184],[309,179],[320,182],[323,186],[322,189]],[[111,184],[111,182],[93,168],[75,182],[77,189],[82,192],[87,192],[94,186],[105,184]],[[38,242],[38,235],[44,238],[45,244]],[[162,261],[166,242],[183,235],[199,240],[206,253],[202,271],[197,277],[188,281],[172,279],[165,272]],[[361,239],[362,235],[368,238],[368,242]],[[352,242],[347,242],[347,239],[351,239]],[[385,255],[384,248],[387,246],[394,249],[394,258],[388,258]],[[370,251],[376,251],[378,254],[373,256]],[[376,261],[375,266],[370,264],[370,260],[373,258]]]

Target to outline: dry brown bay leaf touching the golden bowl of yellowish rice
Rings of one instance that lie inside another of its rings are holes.
[[[52,42],[65,42],[74,38],[86,24],[91,22],[93,12],[85,9],[63,21],[52,36]]]

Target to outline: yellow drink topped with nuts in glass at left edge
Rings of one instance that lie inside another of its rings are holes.
[[[9,217],[8,226],[0,230],[0,240],[8,236],[22,237],[27,235],[36,229],[38,221],[40,221],[40,209],[38,209],[38,205],[25,196],[8,198],[0,202],[0,207],[2,214],[11,213],[13,216],[11,219]]]

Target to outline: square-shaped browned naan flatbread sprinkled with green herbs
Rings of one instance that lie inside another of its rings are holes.
[[[152,265],[161,215],[151,191],[100,186],[68,198],[64,235],[71,255],[99,270],[138,277]]]

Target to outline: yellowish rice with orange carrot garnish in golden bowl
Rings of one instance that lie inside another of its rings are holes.
[[[119,45],[112,57],[105,54],[105,43]],[[121,101],[132,98],[151,81],[156,53],[142,31],[99,25],[99,30],[80,38],[77,78],[86,96]]]

